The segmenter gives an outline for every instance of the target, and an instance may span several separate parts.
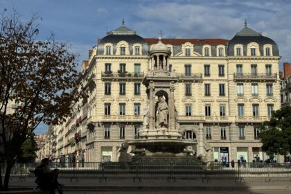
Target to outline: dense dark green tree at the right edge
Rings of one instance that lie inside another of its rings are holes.
[[[270,121],[265,121],[261,127],[259,136],[267,155],[287,155],[291,152],[291,107],[273,112]]]

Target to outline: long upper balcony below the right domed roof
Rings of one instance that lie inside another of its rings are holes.
[[[233,80],[276,80],[277,73],[233,73]]]

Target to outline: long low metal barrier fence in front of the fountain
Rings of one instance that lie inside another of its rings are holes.
[[[6,164],[0,164],[1,173],[4,176]],[[11,177],[17,177],[19,181],[26,181],[26,177],[35,177],[33,170],[38,163],[15,164],[11,170]],[[51,163],[51,170],[58,168],[60,177],[81,179],[91,177],[102,180],[109,178],[166,178],[170,179],[196,179],[209,180],[213,178],[231,178],[235,181],[243,181],[245,178],[264,178],[270,181],[272,178],[291,178],[290,163],[235,163],[222,166],[220,162],[207,164],[197,163],[127,163],[127,162],[79,162],[79,163]]]

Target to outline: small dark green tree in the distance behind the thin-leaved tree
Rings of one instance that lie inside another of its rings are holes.
[[[17,162],[26,163],[33,162],[37,158],[37,150],[39,150],[38,145],[35,141],[35,134],[31,134],[24,143],[22,143],[17,155]]]

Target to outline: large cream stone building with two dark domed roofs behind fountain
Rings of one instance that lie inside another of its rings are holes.
[[[150,79],[163,67],[175,80],[169,125],[182,139],[197,142],[196,155],[208,142],[213,160],[267,159],[258,133],[281,107],[280,58],[276,42],[247,24],[231,40],[159,41],[136,35],[123,23],[98,39],[83,62],[80,82],[89,98],[74,105],[67,123],[53,127],[55,155],[62,161],[118,161],[124,139],[139,139],[144,132],[150,94],[145,75]],[[149,122],[156,122],[155,112],[151,115]]]

